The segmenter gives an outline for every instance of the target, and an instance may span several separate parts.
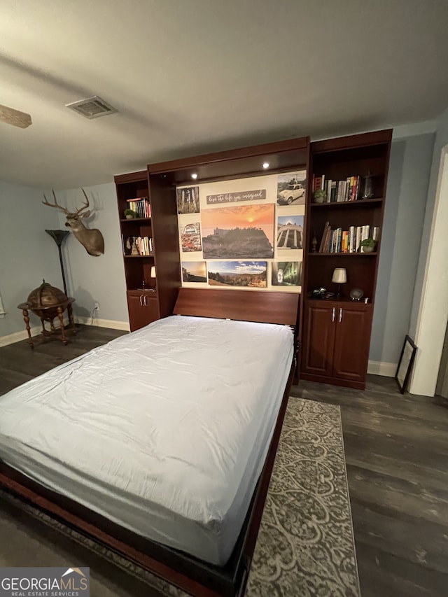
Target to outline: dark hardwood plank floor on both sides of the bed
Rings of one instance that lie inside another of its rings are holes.
[[[0,395],[126,332],[80,326],[70,343],[0,348]],[[292,395],[340,405],[363,597],[448,595],[448,403],[301,381]],[[285,596],[293,597],[293,596]]]

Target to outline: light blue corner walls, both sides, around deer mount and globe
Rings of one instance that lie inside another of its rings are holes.
[[[115,185],[96,185],[85,191],[93,209],[85,223],[101,230],[105,251],[104,255],[92,257],[72,234],[64,241],[67,290],[76,299],[73,312],[90,319],[94,303],[99,302],[100,309],[95,314],[98,319],[126,324],[125,269]],[[43,278],[52,286],[63,288],[57,245],[45,229],[66,230],[66,218],[61,211],[41,203],[43,192],[51,197],[48,190],[0,181],[0,295],[8,312],[0,317],[0,337],[25,331],[17,305],[27,300]],[[83,199],[80,189],[57,192],[58,203],[69,209],[79,207]],[[40,325],[34,314],[32,325]]]

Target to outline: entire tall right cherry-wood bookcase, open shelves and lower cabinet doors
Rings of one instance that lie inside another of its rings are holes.
[[[386,196],[386,179],[391,146],[391,130],[339,137],[311,143],[309,185],[307,189],[307,225],[304,244],[304,306],[302,330],[302,379],[364,389],[372,330],[372,314],[377,282],[381,228]],[[314,201],[314,179],[346,181],[359,177],[359,192],[350,200],[339,197],[323,203]],[[370,195],[363,199],[366,178]],[[354,197],[358,197],[355,199]],[[328,223],[328,224],[327,224]],[[375,228],[377,246],[372,253],[346,252],[321,246],[325,225],[332,231]],[[314,239],[314,242],[313,242]],[[317,244],[316,244],[317,240]],[[346,283],[340,297],[314,297],[313,291],[326,288],[336,293],[332,283],[335,268],[346,269]],[[363,291],[359,301],[352,300],[353,289]]]

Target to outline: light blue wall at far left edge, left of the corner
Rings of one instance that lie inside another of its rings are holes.
[[[42,199],[38,189],[0,181],[0,293],[8,313],[0,318],[0,337],[25,331],[17,306],[43,278],[62,288],[57,246],[45,232],[57,229],[59,220]],[[40,325],[33,314],[31,325]]]

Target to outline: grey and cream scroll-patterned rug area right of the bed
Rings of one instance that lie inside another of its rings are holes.
[[[359,597],[340,409],[290,398],[250,597]]]

